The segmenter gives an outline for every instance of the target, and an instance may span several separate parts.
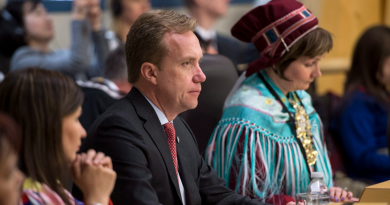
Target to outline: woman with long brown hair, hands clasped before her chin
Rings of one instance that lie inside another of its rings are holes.
[[[23,204],[83,204],[64,187],[69,174],[85,204],[109,204],[116,173],[109,157],[76,154],[86,132],[78,121],[83,93],[68,76],[43,69],[11,72],[0,84],[0,110],[21,126]],[[69,170],[69,172],[68,172]]]

